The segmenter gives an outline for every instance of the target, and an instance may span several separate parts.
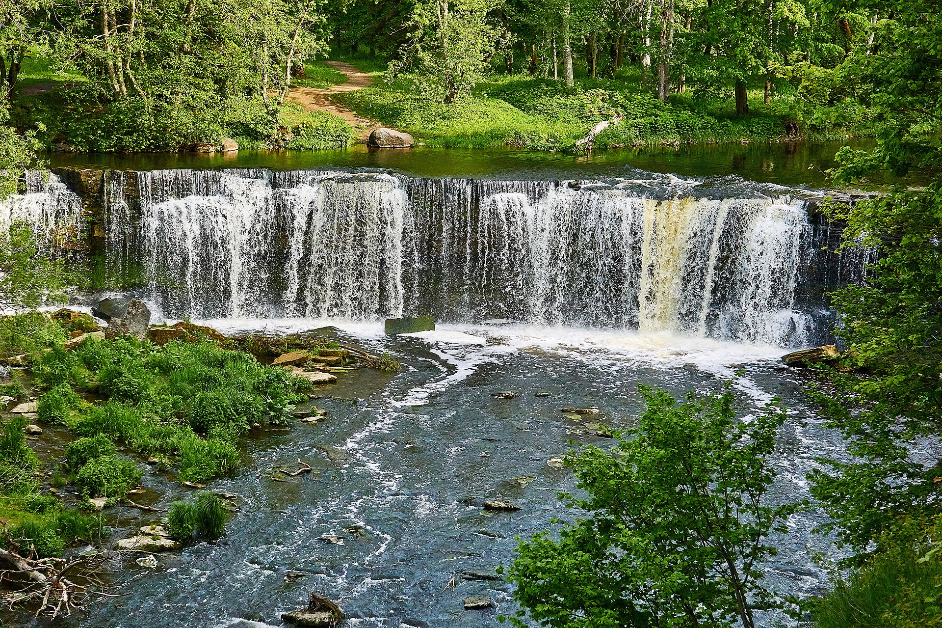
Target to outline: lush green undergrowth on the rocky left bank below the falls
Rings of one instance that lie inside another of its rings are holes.
[[[15,380],[0,392],[39,396],[39,421],[77,437],[54,470],[43,472],[24,435],[26,418],[0,423],[0,521],[8,530],[0,546],[24,556],[58,556],[77,539],[100,538],[102,520],[87,514],[89,500],[124,498],[140,482],[140,458],[154,456],[182,482],[233,471],[241,458],[239,438],[253,424],[289,421],[293,402],[303,398],[298,388],[307,385],[208,339],[161,347],[132,337],[89,338],[66,350],[67,332],[87,326],[82,317],[59,322],[34,312],[3,323],[0,346],[8,355],[27,355],[33,377],[28,386]],[[67,510],[52,490],[43,494],[44,477],[52,488],[77,488],[85,511]],[[206,493],[187,507],[191,532],[221,534],[225,512],[218,496]]]

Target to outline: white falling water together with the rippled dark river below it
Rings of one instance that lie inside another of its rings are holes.
[[[625,163],[474,179],[352,165],[107,174],[109,265],[142,268],[137,293],[168,318],[223,330],[331,324],[337,339],[389,351],[405,368],[349,373],[317,402],[329,421],[246,439],[246,464],[211,485],[239,496],[226,537],[162,556],[155,570],[131,563],[125,597],[66,625],[277,625],[315,590],[354,626],[496,626],[497,612],[513,611],[510,586],[461,571],[507,565],[514,536],[571,516],[555,494],[574,478],[546,461],[570,438],[607,441],[577,432],[560,408],[597,405],[630,427],[638,383],[680,395],[732,378],[743,416],[783,397],[793,409],[774,463],[779,502],[807,494],[815,455],[840,450],[777,361],[827,338],[822,291],[860,276],[867,259],[822,251],[836,242],[808,215],[820,194]],[[83,228],[81,203],[57,177],[31,186],[0,220],[27,218],[47,241]],[[444,321],[438,331],[389,338],[375,322],[422,311]],[[493,396],[505,390],[520,396]],[[329,460],[323,446],[349,460]],[[273,482],[258,472],[299,457],[319,473]],[[521,488],[520,475],[536,480]],[[185,490],[171,480],[145,474],[162,507]],[[494,497],[524,509],[488,514],[480,505]],[[146,515],[121,509],[114,524],[130,533]],[[777,590],[826,585],[811,554],[834,550],[810,534],[817,521],[796,516],[775,540]],[[306,575],[292,582],[288,571]],[[446,588],[453,575],[458,587]],[[476,593],[497,609],[463,611]]]

